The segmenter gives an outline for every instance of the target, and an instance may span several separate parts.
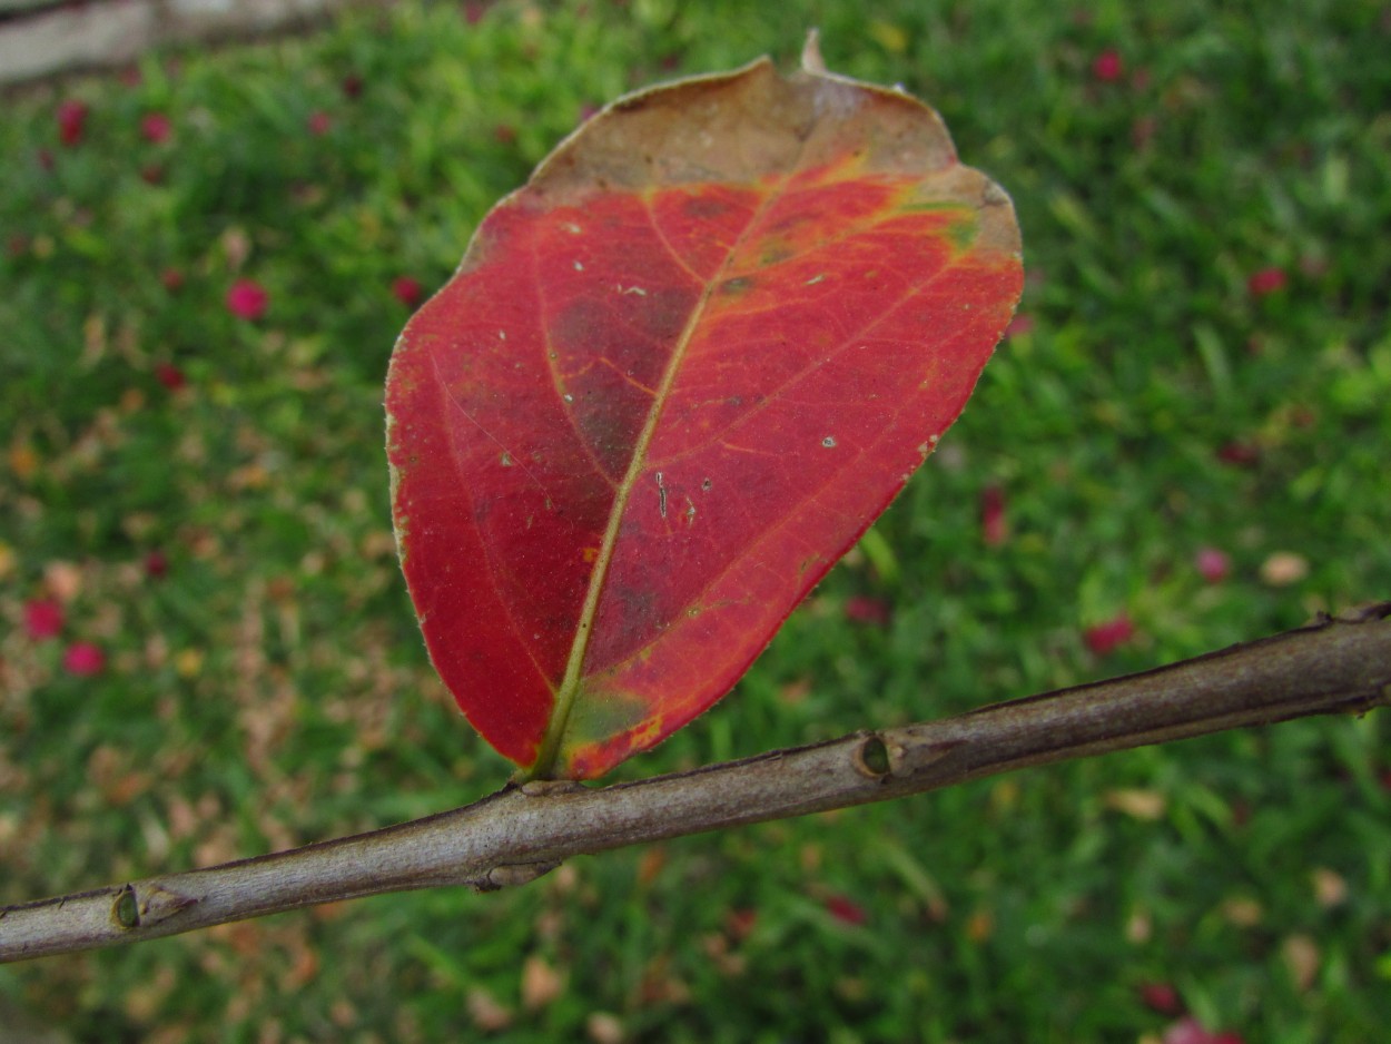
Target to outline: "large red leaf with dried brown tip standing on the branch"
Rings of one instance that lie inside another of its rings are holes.
[[[1008,199],[901,92],[765,58],[590,120],[388,377],[402,565],[474,727],[590,778],[709,707],[960,413],[1021,283]]]

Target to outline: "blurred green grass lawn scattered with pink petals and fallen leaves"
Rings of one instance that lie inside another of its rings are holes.
[[[871,536],[615,778],[1391,597],[1383,4],[406,3],[152,54],[0,116],[0,902],[506,780],[396,568],[395,335],[593,106],[790,67],[808,25],[1011,192],[1028,288]],[[163,1044],[1369,1041],[1391,714],[8,966],[3,1001]]]

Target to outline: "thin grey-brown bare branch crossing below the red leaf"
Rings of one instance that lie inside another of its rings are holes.
[[[0,962],[337,899],[492,891],[570,856],[901,798],[996,773],[1391,703],[1391,603],[1143,674],[606,788],[508,786],[396,827],[0,908]]]

